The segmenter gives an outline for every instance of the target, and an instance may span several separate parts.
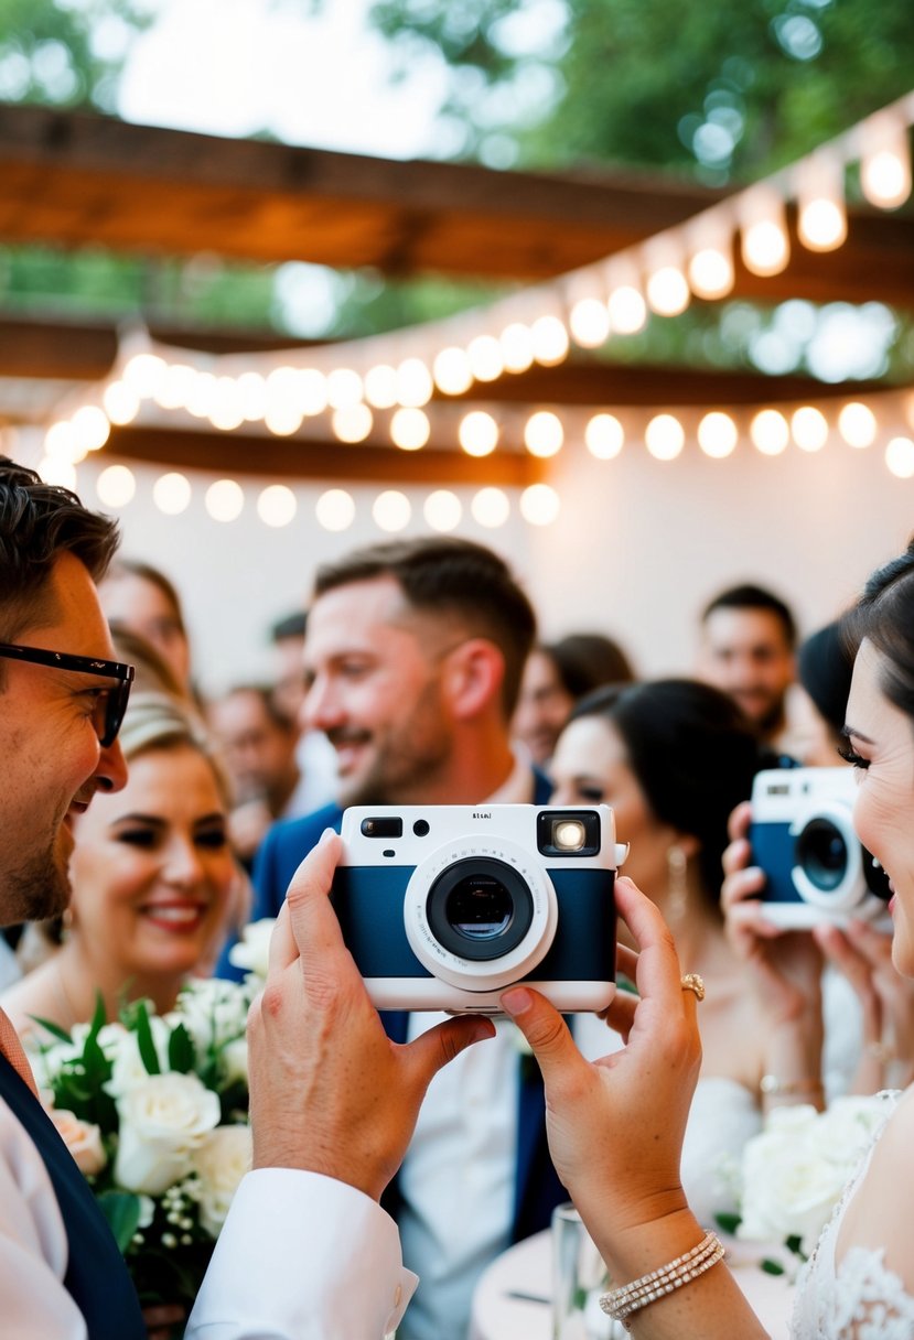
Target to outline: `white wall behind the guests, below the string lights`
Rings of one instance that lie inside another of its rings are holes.
[[[34,464],[31,449],[17,454]],[[102,456],[79,466],[78,489],[91,507],[99,505],[98,473],[113,460]],[[213,521],[202,504],[217,473],[189,473],[193,501],[178,517],[164,516],[151,503],[157,473],[135,466],[137,496],[119,513],[123,552],[161,567],[178,586],[197,678],[209,691],[268,675],[267,630],[307,599],[315,565],[382,539],[370,515],[374,488],[352,490],[356,523],[331,535],[314,520],[327,485],[298,488],[296,520],[269,529],[257,519],[255,500],[272,481],[244,481],[245,511],[226,525]],[[708,460],[690,444],[669,464],[635,446],[599,462],[568,444],[553,464],[552,482],[562,496],[552,527],[528,527],[515,497],[507,527],[486,531],[469,520],[461,533],[509,559],[545,636],[602,628],[630,650],[643,674],[690,670],[698,612],[722,586],[769,584],[811,632],[914,532],[914,481],[891,476],[875,450],[834,442],[815,456],[792,448],[776,458],[741,445],[728,461]],[[409,533],[418,533],[429,490],[407,492],[414,504]],[[466,516],[470,492],[456,492]]]

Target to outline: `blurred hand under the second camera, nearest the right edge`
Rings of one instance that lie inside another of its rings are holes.
[[[863,1055],[854,1092],[905,1088],[914,1077],[914,981],[893,963],[891,935],[860,921],[844,930],[816,926],[813,935],[860,1001]]]

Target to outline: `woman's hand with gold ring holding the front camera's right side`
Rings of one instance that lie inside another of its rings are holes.
[[[543,996],[516,986],[501,997],[543,1071],[556,1171],[600,1248],[603,1225],[615,1240],[685,1209],[679,1154],[701,1064],[698,1002],[681,986],[670,931],[630,879],[618,879],[615,894],[639,947],[619,950],[639,997],[618,993],[607,1012],[626,1037],[622,1051],[586,1061]]]

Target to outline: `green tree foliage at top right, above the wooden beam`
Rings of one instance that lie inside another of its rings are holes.
[[[378,0],[449,67],[465,155],[752,180],[907,92],[910,0]],[[504,163],[503,163],[504,165]]]

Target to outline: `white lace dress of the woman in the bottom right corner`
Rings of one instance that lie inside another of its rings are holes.
[[[897,1099],[897,1093],[886,1095],[886,1120]],[[885,1123],[800,1272],[791,1340],[914,1340],[914,1298],[898,1276],[886,1269],[883,1249],[850,1248],[835,1268],[844,1211],[883,1130]]]

